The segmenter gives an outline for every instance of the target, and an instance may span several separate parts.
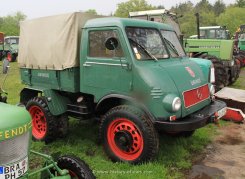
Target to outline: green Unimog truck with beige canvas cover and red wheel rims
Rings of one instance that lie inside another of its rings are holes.
[[[37,140],[96,117],[109,158],[137,164],[157,154],[158,130],[188,136],[225,113],[211,62],[186,57],[169,25],[71,13],[20,27],[20,102]]]

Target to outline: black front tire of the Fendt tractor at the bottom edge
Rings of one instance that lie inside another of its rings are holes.
[[[58,159],[57,165],[61,169],[68,170],[71,178],[95,179],[95,176],[89,166],[77,157],[62,156]],[[76,176],[72,176],[73,174]]]

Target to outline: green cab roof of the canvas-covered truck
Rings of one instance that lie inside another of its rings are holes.
[[[173,28],[167,24],[146,21],[141,19],[117,18],[117,17],[91,19],[87,21],[84,28],[110,27],[110,26],[117,26],[122,29],[125,27],[147,27],[147,28],[158,28],[158,29],[173,31]]]

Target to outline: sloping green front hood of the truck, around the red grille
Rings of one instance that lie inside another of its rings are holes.
[[[189,91],[194,91],[193,95],[195,96],[195,90],[200,87],[206,87],[205,94],[209,97],[209,89],[207,85],[208,78],[205,78],[202,69],[195,61],[191,61],[188,58],[172,58],[159,60],[158,62],[141,62],[139,64],[139,78],[144,81],[144,85],[141,84],[136,86],[141,87],[141,89],[143,89],[142,86],[148,86],[148,88],[150,88],[149,90],[151,91],[150,94],[152,100],[149,108],[151,108],[155,113],[160,111],[158,112],[158,117],[160,117],[160,115],[164,115],[162,114],[163,110],[158,107],[159,103],[163,106],[162,101],[166,96],[169,96],[169,94],[180,97],[182,100],[182,108],[176,113],[168,111],[168,114],[165,113],[166,117],[169,115],[185,117],[186,115],[203,108],[209,103],[209,100],[206,100],[207,98],[195,103],[196,99],[194,99],[194,102],[192,101],[192,93],[188,93],[187,97],[185,96],[185,99],[188,98],[188,100],[191,101],[191,105],[186,105],[187,102],[184,99],[184,94]],[[135,82],[136,81],[138,80],[135,80]]]

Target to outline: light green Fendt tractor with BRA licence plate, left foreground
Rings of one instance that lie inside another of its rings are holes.
[[[3,81],[5,79],[6,76]],[[95,178],[86,163],[77,157],[61,156],[55,162],[49,155],[30,150],[31,116],[25,108],[9,105],[6,102],[7,93],[1,87],[0,179],[28,179],[36,175],[40,175],[42,179]],[[42,168],[33,172],[30,171],[30,154],[45,159],[45,164]]]

